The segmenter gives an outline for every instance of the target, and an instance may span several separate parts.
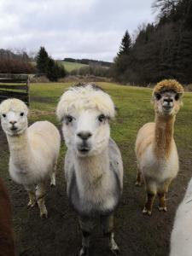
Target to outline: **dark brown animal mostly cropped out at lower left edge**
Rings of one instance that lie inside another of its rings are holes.
[[[0,256],[14,256],[14,238],[11,224],[9,195],[0,178]]]

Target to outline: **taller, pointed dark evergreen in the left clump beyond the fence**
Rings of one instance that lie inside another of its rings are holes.
[[[47,73],[49,55],[44,47],[40,47],[38,55],[36,56],[38,73]]]

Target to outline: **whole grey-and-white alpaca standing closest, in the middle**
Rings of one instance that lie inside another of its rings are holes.
[[[123,188],[123,165],[119,148],[110,138],[109,119],[115,109],[107,93],[95,84],[78,84],[67,90],[57,107],[67,144],[65,176],[67,195],[83,233],[79,255],[88,255],[95,219],[109,237],[113,253],[113,212]]]

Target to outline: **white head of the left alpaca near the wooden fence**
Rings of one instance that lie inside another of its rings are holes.
[[[10,136],[21,134],[27,128],[28,108],[18,99],[8,99],[0,104],[3,131]]]

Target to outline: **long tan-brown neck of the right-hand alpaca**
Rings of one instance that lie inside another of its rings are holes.
[[[172,150],[175,116],[155,116],[154,152],[159,157],[168,157]]]

